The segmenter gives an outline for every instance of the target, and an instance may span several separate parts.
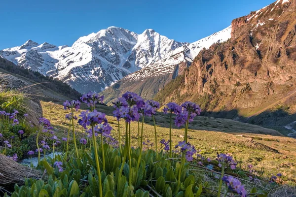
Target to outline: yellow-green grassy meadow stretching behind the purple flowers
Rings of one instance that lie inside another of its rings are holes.
[[[68,121],[65,115],[69,111],[63,110],[63,106],[52,102],[41,102],[44,117],[48,118],[54,127],[58,128],[60,136],[64,136],[68,130]],[[99,111],[106,113],[108,120],[113,127],[112,136],[118,137],[117,121],[111,116],[112,107],[100,105]],[[76,112],[76,115],[81,110]],[[155,117],[158,139],[169,139],[169,116],[157,114]],[[124,130],[124,122],[120,122],[121,131]],[[154,142],[154,128],[151,118],[147,117],[144,125],[144,140]],[[76,124],[75,130],[80,137],[83,136],[83,129]],[[137,145],[138,124],[131,124],[132,144]],[[266,134],[264,134],[266,133]],[[173,144],[182,141],[184,129],[173,128]],[[273,134],[273,135],[271,135]],[[253,164],[255,169],[264,168],[264,176],[281,172],[286,183],[296,182],[296,139],[276,136],[277,131],[265,129],[259,126],[244,124],[228,119],[210,117],[197,117],[189,126],[189,141],[206,157],[215,158],[217,153],[230,153],[237,161],[242,161],[242,167],[247,168]],[[124,136],[121,138],[124,140]],[[161,147],[161,144],[158,145]]]

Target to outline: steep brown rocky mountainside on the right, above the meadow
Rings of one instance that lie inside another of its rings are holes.
[[[283,128],[296,112],[296,1],[277,0],[231,26],[230,40],[203,49],[184,80],[156,98],[192,100],[205,115]]]

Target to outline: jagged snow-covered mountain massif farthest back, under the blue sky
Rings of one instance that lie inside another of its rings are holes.
[[[81,93],[100,92],[185,44],[150,29],[137,34],[110,27],[80,37],[71,47],[28,40],[22,46],[0,50],[0,56],[59,78]]]

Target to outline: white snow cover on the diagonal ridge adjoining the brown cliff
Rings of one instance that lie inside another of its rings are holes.
[[[231,37],[231,26],[224,30],[214,33],[208,37],[202,38],[191,44],[185,44],[182,47],[171,51],[164,58],[149,64],[141,70],[126,76],[126,80],[136,81],[145,79],[149,76],[159,76],[175,71],[175,66],[184,62],[187,66],[191,64],[193,59],[203,48],[209,48],[212,44],[217,42],[224,42]],[[178,75],[178,73],[176,73]]]

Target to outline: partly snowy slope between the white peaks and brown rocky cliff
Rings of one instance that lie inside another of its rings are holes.
[[[152,99],[168,82],[182,74],[203,48],[228,40],[230,34],[231,26],[191,44],[185,44],[164,58],[124,77],[102,94],[107,102],[126,91],[133,91],[143,98]]]

